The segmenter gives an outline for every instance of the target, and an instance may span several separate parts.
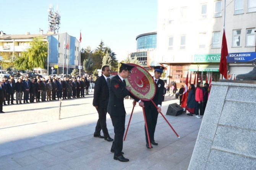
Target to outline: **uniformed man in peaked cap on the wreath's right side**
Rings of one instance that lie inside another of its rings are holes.
[[[154,106],[154,104],[151,101],[144,101],[144,104],[145,104],[144,110],[145,110],[145,116],[146,116],[146,122],[147,122],[147,129],[149,132],[149,140],[151,141],[151,144],[158,145],[158,143],[154,139],[154,133],[156,130],[158,113],[161,111],[162,99],[164,95],[164,81],[159,79],[163,73],[164,67],[156,66],[154,67],[154,69],[155,71],[154,71],[153,79],[156,82],[156,94],[152,100],[157,105],[157,108]],[[145,135],[146,135],[146,147],[149,148],[149,143],[147,140],[147,133],[146,133],[146,125],[145,125]],[[151,148],[153,147],[151,146]]]

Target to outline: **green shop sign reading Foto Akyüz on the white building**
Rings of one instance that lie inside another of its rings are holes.
[[[194,62],[220,62],[220,54],[196,54],[194,55]]]

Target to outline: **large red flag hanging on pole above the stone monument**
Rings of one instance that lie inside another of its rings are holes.
[[[227,40],[225,35],[225,29],[223,29],[219,69],[220,69],[220,74],[222,74],[225,79],[227,79],[227,55],[228,55]]]

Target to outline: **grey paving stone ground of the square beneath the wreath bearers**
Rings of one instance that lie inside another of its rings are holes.
[[[165,96],[162,112],[175,131],[159,114],[155,139],[159,143],[146,148],[144,118],[141,107],[134,108],[131,124],[123,144],[129,162],[113,159],[111,142],[94,138],[98,114],[92,106],[93,93],[86,98],[62,101],[58,120],[58,101],[4,106],[0,114],[1,170],[186,170],[196,143],[202,119],[185,114],[165,115],[168,105],[177,103]],[[125,99],[126,127],[132,110],[132,100]],[[110,116],[107,128],[114,137]]]

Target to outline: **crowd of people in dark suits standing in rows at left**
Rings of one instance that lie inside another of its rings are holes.
[[[76,79],[64,77],[63,80],[55,76],[49,76],[48,80],[39,76],[36,79],[20,76],[15,82],[10,75],[9,79],[3,78],[0,81],[0,112],[3,113],[3,105],[15,104],[15,100],[16,104],[22,104],[22,100],[23,103],[35,103],[82,98],[89,95],[89,87],[90,82],[86,76],[78,76]]]

